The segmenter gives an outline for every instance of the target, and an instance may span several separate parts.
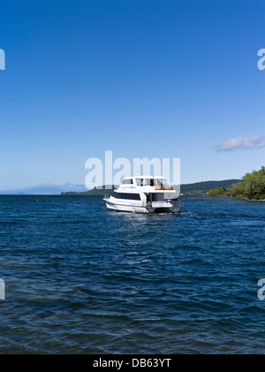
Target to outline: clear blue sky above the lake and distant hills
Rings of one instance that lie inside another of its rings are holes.
[[[181,183],[265,165],[263,1],[1,4],[0,190],[89,157],[180,157]]]

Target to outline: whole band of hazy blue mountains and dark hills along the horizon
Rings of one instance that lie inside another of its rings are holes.
[[[212,188],[225,187],[230,188],[232,184],[239,183],[241,179],[224,179],[222,181],[203,181],[196,182],[193,184],[182,184],[180,185],[181,194],[206,194]],[[111,188],[110,188],[111,187]],[[104,195],[111,194],[115,186],[110,186],[105,188],[105,186],[95,187],[92,190],[87,190],[85,185],[73,185],[72,183],[67,183],[64,185],[57,185],[55,183],[42,184],[38,186],[23,187],[14,190],[3,190],[0,194],[25,194],[25,195],[59,195],[59,194],[85,194],[85,195]]]

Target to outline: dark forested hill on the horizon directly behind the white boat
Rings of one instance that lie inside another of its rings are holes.
[[[237,184],[241,179],[224,179],[223,181],[203,181],[196,182],[194,184],[182,184],[180,185],[180,193],[183,195],[189,194],[207,194],[208,191],[216,187],[225,187],[230,188],[233,184]],[[92,190],[86,192],[71,192],[71,193],[62,193],[62,194],[79,194],[79,195],[106,195],[111,194],[117,186],[100,186],[94,187]]]

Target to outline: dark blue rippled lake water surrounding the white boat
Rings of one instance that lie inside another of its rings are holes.
[[[182,200],[0,196],[0,352],[264,353],[265,202]]]

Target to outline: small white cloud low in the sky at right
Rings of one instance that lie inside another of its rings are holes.
[[[265,139],[261,137],[237,137],[230,140],[223,140],[216,145],[218,151],[235,151],[245,148],[264,148]]]

